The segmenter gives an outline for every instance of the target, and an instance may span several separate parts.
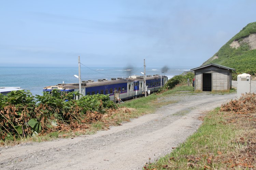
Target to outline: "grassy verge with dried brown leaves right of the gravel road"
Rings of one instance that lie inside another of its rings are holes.
[[[196,133],[170,154],[146,164],[156,169],[253,169],[256,167],[256,114],[214,109]]]

